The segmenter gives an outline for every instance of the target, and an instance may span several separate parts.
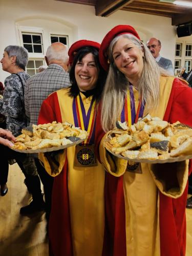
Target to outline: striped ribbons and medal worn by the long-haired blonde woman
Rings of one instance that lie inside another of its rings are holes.
[[[121,122],[127,121],[128,126],[131,126],[138,121],[139,117],[143,116],[143,112],[144,104],[141,102],[141,99],[139,100],[139,105],[136,112],[133,86],[130,86],[130,90],[127,91],[124,98],[123,109],[121,112]],[[127,172],[142,174],[140,164],[132,160],[127,162],[126,170]]]

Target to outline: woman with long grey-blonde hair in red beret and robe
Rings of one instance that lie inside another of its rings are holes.
[[[131,26],[119,25],[106,34],[99,58],[109,70],[96,136],[98,145],[102,138],[100,161],[108,172],[105,207],[112,254],[184,255],[188,161],[153,166],[126,161],[106,152],[103,141],[117,120],[131,126],[147,113],[191,126],[191,89],[158,67]]]

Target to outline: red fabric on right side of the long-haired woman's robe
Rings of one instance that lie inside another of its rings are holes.
[[[164,115],[164,120],[192,126],[192,91],[184,82],[176,78]],[[189,173],[191,172],[191,160]],[[161,256],[185,255],[186,247],[186,219],[185,207],[187,198],[187,186],[183,195],[178,199],[172,199],[160,193],[159,225]]]

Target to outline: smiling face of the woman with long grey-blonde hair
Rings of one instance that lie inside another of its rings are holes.
[[[143,51],[130,39],[120,37],[113,48],[113,59],[119,71],[136,83],[143,70]]]

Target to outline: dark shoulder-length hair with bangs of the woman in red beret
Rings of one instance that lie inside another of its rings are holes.
[[[74,61],[73,61],[73,64],[72,64],[70,72],[69,72],[70,81],[72,84],[72,86],[70,87],[69,95],[71,97],[76,97],[79,94],[79,88],[77,85],[77,81],[75,79],[75,66],[76,66],[77,61],[81,61],[82,58],[89,53],[93,54],[96,68],[98,70],[98,80],[96,83],[96,87],[93,90],[94,91],[93,98],[98,101],[101,97],[104,83],[106,80],[106,71],[103,70],[103,68],[101,67],[101,65],[99,63],[99,52],[94,47],[91,47],[91,46],[86,46],[86,47],[80,48],[74,57]]]

